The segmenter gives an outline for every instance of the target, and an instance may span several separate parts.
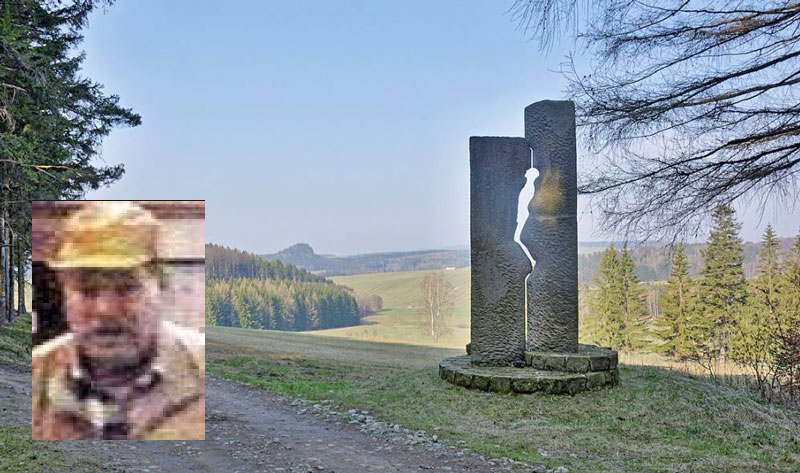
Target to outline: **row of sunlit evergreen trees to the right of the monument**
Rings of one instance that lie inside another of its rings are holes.
[[[767,399],[800,402],[800,235],[782,252],[768,225],[756,276],[746,279],[740,230],[732,208],[714,211],[698,277],[678,245],[656,314],[646,306],[628,248],[606,249],[588,294],[589,317],[596,319],[588,338],[691,360],[712,376],[733,362]]]

